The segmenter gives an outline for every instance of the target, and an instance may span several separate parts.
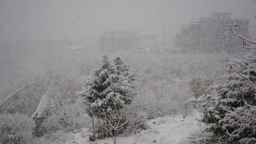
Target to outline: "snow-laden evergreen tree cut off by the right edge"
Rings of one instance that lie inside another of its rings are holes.
[[[205,130],[213,132],[208,139],[211,143],[256,143],[256,42],[235,33],[231,26],[230,29],[251,53],[242,59],[223,58],[229,72],[226,83],[209,87],[208,90],[216,90],[216,95],[189,101],[203,109]]]

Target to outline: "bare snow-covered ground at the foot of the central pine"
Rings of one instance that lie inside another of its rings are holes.
[[[202,113],[194,111],[193,114],[183,118],[182,115],[176,115],[171,117],[161,117],[152,119],[148,122],[151,129],[144,130],[139,134],[134,134],[129,137],[117,137],[117,144],[132,144],[132,143],[179,143],[185,139],[190,132],[201,129],[204,124],[197,121],[197,119],[202,118]],[[154,123],[155,122],[155,123]],[[79,144],[90,144],[98,143],[103,144],[106,141],[109,144],[114,143],[112,138],[107,138],[103,140],[96,140],[94,142],[89,141],[89,128],[82,129],[82,132],[75,133],[76,139],[70,141],[69,143],[79,143]],[[73,134],[73,133],[70,133]],[[82,135],[87,135],[82,138]],[[154,142],[155,141],[155,142]]]

